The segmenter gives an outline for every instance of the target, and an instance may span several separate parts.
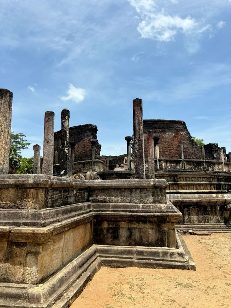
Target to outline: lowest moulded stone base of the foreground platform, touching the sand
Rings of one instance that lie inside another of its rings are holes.
[[[180,234],[177,248],[93,245],[40,284],[0,283],[0,307],[67,308],[101,266],[196,270]]]

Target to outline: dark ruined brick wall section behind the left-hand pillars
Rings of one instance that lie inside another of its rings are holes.
[[[91,139],[97,139],[98,128],[93,124],[85,124],[70,127],[70,141],[75,141],[75,161],[89,160],[91,154]],[[61,131],[55,132],[54,157],[60,161]],[[100,155],[101,144],[96,143],[96,158]],[[57,152],[57,153],[55,153]],[[54,160],[55,161],[55,160]]]

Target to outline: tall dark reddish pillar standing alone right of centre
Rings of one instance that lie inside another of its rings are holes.
[[[143,140],[143,107],[142,99],[133,100],[133,154],[135,159],[135,178],[145,179],[144,140]]]

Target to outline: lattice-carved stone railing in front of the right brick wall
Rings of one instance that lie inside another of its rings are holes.
[[[132,170],[134,166],[134,159],[131,159]],[[155,170],[231,172],[231,163],[219,160],[159,158],[158,165],[155,159]],[[145,171],[148,171],[148,159],[145,159]]]

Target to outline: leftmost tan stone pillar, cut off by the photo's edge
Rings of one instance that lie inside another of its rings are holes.
[[[12,99],[12,92],[0,89],[0,174],[9,172]]]

